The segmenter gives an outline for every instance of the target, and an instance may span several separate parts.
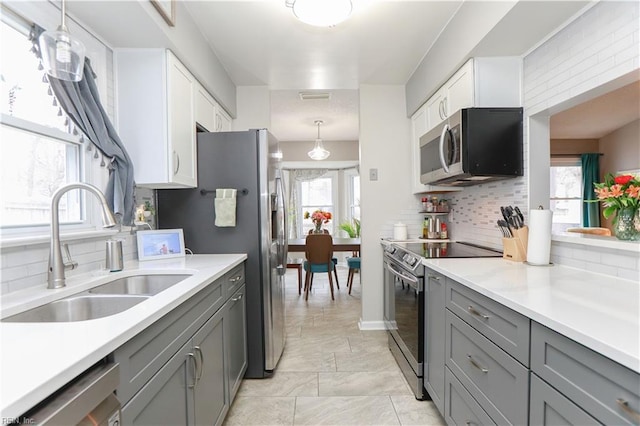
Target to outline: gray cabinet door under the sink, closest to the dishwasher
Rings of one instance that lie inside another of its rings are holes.
[[[192,425],[194,359],[191,345],[180,350],[122,408],[122,424],[134,426]]]

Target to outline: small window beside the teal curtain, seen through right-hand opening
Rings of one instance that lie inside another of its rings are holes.
[[[552,230],[582,226],[582,165],[580,157],[551,157],[550,208]]]

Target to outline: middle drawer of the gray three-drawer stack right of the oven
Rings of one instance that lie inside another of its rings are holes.
[[[529,370],[447,310],[446,365],[499,424],[527,423]]]

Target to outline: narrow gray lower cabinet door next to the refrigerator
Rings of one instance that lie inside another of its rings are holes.
[[[236,294],[227,302],[225,324],[228,332],[225,337],[225,347],[228,353],[229,366],[229,399],[233,401],[236,392],[247,370],[247,320],[245,299],[245,286],[242,286]]]

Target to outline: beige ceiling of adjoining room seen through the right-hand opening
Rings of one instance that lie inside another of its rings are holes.
[[[551,139],[600,139],[640,119],[640,81],[551,116]]]

